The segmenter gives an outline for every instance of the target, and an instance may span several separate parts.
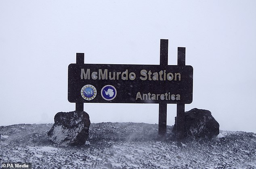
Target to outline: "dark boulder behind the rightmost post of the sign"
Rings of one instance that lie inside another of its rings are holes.
[[[185,112],[185,137],[215,138],[220,133],[219,127],[209,110],[193,108]],[[172,132],[176,135],[176,117]]]

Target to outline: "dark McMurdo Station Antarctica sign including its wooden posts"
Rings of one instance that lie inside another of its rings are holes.
[[[160,65],[84,64],[84,53],[68,66],[68,101],[83,111],[84,103],[159,104],[159,134],[166,134],[167,104],[177,104],[177,138],[184,136],[185,104],[193,100],[193,67],[168,65],[168,39],[160,40]]]

